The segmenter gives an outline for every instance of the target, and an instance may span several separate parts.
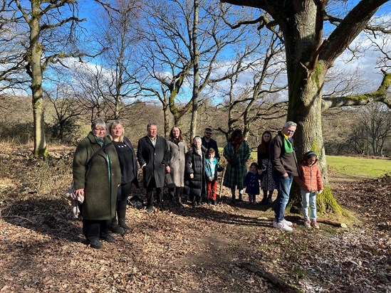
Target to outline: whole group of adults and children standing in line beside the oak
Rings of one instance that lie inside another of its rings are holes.
[[[95,119],[91,132],[78,144],[73,159],[75,195],[85,198],[80,213],[83,216],[83,234],[91,247],[103,247],[100,240],[114,243],[115,238],[109,230],[122,235],[125,230],[132,230],[125,222],[125,215],[132,186],[139,188],[137,162],[142,168],[142,181],[146,188],[147,213],[152,213],[155,207],[163,209],[164,186],[168,188],[170,201],[174,205],[183,206],[182,194],[188,196],[193,207],[204,201],[217,204],[217,173],[222,168],[211,128],[205,129],[204,137],[194,137],[192,146],[187,148],[179,127],[172,127],[170,138],[165,139],[157,134],[156,124],[148,124],[147,135],[138,141],[137,153],[130,139],[125,137],[118,120],[111,122],[108,129],[109,133],[102,119]],[[301,175],[307,174],[308,170],[306,166],[298,170],[293,151],[291,137],[295,130],[296,124],[287,122],[274,139],[271,132],[264,132],[258,147],[258,161],[251,164],[247,176],[246,163],[251,149],[240,129],[234,130],[223,151],[228,163],[223,185],[230,188],[232,202],[236,202],[236,190],[239,191],[239,201],[242,201],[245,186],[251,202],[255,202],[259,191],[254,191],[254,185],[258,183],[259,186],[261,177],[264,192],[261,204],[271,203],[274,188],[278,191],[273,226],[281,230],[292,229],[291,223],[284,220],[283,212],[288,203],[293,176],[303,187],[306,227],[312,225],[318,228],[313,182]],[[303,164],[310,166],[310,175],[316,161],[315,153],[306,154]],[[316,177],[316,191],[323,190],[319,174]],[[308,203],[311,205],[311,220],[308,218]]]

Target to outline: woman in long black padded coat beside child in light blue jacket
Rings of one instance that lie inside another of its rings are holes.
[[[206,194],[205,154],[201,137],[194,137],[193,145],[186,154],[186,189],[193,208],[202,204],[202,194]]]

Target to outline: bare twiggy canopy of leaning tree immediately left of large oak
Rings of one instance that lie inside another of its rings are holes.
[[[251,70],[235,74],[229,79],[229,85],[220,86],[221,95],[226,99],[219,106],[228,112],[228,121],[227,128],[221,125],[218,129],[227,140],[237,127],[243,128],[244,137],[248,137],[256,120],[286,115],[286,100],[281,97],[286,89],[286,68],[281,56],[283,46],[278,36],[267,31],[261,43],[264,52],[253,61]]]

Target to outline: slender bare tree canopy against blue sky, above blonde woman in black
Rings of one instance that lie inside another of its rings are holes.
[[[103,70],[96,70],[96,83],[105,101],[107,119],[126,117],[125,110],[137,101],[135,48],[140,40],[137,33],[140,2],[134,0],[98,1],[101,9],[95,19],[94,36],[102,48],[97,59]],[[91,72],[92,73],[92,72]]]

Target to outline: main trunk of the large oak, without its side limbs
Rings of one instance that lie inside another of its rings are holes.
[[[296,19],[296,26],[288,24],[283,27],[286,40],[286,60],[288,67],[288,117],[287,120],[298,124],[294,136],[298,164],[306,151],[318,154],[320,170],[323,174],[324,191],[318,196],[318,211],[331,210],[341,212],[340,206],[333,198],[328,182],[325,160],[325,147],[322,134],[322,93],[323,81],[327,69],[321,62],[316,70],[308,76],[308,64],[316,50],[316,6],[310,3],[302,9]],[[301,212],[301,193],[293,186],[291,191],[291,211]]]

